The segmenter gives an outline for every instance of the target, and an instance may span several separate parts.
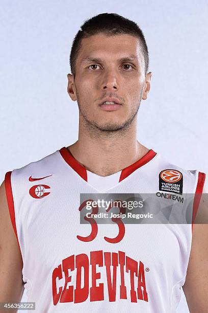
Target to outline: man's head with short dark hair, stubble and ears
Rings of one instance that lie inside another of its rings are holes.
[[[114,13],[85,21],[73,40],[70,65],[68,93],[77,101],[80,123],[112,132],[135,121],[151,78],[147,45],[136,23]],[[101,105],[106,98],[120,105]]]

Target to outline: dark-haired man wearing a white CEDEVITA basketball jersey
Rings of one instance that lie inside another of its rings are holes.
[[[119,217],[103,224],[92,215],[80,222],[87,204],[80,194],[167,194],[168,202],[190,193],[193,221],[206,209],[204,173],[137,141],[152,76],[142,31],[120,15],[99,14],[77,33],[70,64],[79,139],[7,172],[1,186],[0,300],[20,301],[24,284],[37,312],[167,313],[183,286],[190,312],[207,312],[206,225],[125,224]]]

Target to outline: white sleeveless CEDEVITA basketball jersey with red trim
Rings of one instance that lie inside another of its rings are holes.
[[[89,218],[83,224],[80,194],[151,193],[168,205],[186,193],[200,195],[204,180],[204,173],[171,164],[152,149],[106,177],[86,170],[66,147],[7,172],[22,279],[35,312],[175,312],[192,223],[124,224],[118,218],[93,224]],[[193,219],[198,204],[194,196]]]

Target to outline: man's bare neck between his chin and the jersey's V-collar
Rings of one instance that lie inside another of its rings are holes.
[[[97,131],[96,135],[89,127],[80,126],[79,139],[67,148],[87,170],[108,176],[138,161],[149,151],[136,136],[133,123],[125,131],[101,131],[100,134]]]

